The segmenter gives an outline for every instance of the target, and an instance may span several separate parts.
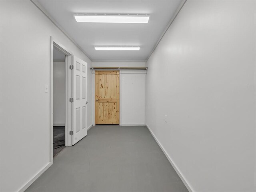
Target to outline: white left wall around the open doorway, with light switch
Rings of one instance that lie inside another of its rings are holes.
[[[0,18],[0,191],[14,192],[49,163],[50,36],[91,61],[29,0],[0,1]]]

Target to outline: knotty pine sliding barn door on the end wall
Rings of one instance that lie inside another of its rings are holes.
[[[119,124],[119,71],[95,71],[95,124]]]

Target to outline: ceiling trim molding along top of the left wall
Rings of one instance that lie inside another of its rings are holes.
[[[42,13],[50,19],[50,21],[64,34],[66,37],[72,41],[80,51],[82,51],[86,57],[88,57],[91,61],[92,59],[86,54],[86,52],[80,47],[77,42],[58,24],[58,22],[46,11],[46,9],[37,1],[37,0],[30,0]]]

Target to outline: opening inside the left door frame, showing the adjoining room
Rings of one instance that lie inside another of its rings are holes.
[[[53,48],[53,157],[65,148],[65,54]]]

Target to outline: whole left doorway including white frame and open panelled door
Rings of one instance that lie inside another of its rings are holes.
[[[72,146],[87,135],[88,102],[87,63],[52,36],[50,42],[50,162],[53,162],[53,156],[65,146]]]

